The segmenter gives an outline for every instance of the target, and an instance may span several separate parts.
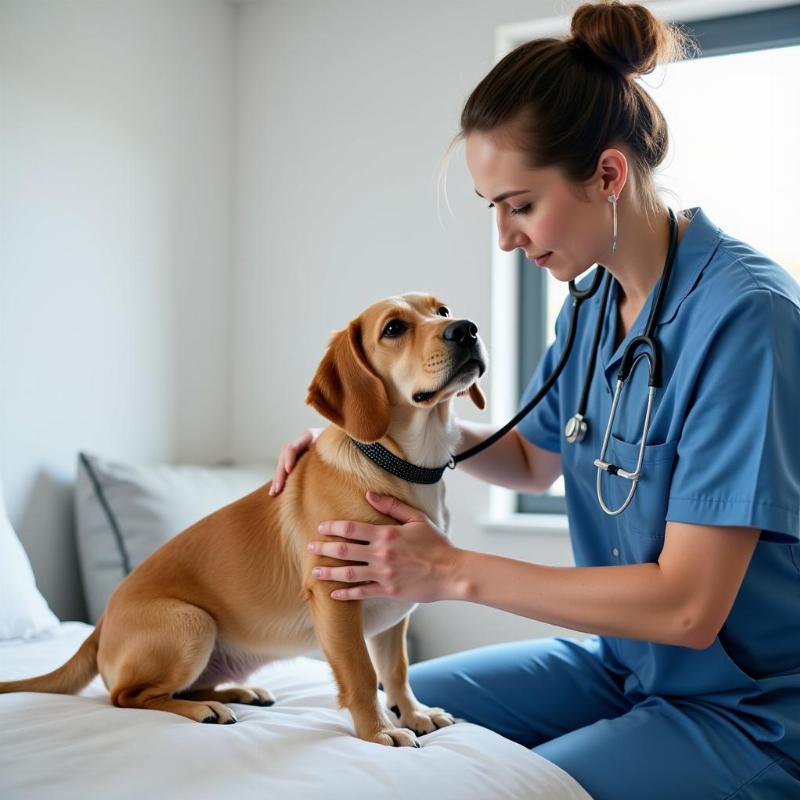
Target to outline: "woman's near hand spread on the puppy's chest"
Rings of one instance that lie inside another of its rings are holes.
[[[449,595],[457,554],[447,536],[426,514],[402,503],[396,497],[367,492],[373,508],[400,525],[371,525],[367,522],[327,520],[319,532],[341,536],[351,542],[311,542],[308,549],[318,555],[363,565],[315,567],[318,580],[359,583],[352,589],[331,593],[337,600],[363,600],[367,597],[392,597],[428,603]]]

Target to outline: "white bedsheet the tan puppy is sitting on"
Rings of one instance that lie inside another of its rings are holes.
[[[0,680],[49,672],[91,630],[65,622],[30,642],[0,642]],[[79,696],[0,695],[0,797],[589,798],[559,767],[478,725],[434,731],[420,739],[421,749],[356,739],[324,661],[276,662],[250,682],[277,703],[234,705],[235,725],[114,708],[99,677]]]

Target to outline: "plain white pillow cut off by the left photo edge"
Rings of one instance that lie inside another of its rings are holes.
[[[28,554],[11,527],[0,485],[0,639],[29,639],[58,627],[59,619],[36,588]]]

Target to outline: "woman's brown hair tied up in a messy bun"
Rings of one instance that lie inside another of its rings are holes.
[[[535,39],[502,58],[470,94],[461,130],[494,132],[522,150],[531,167],[557,166],[587,181],[607,147],[625,145],[630,177],[648,215],[660,203],[653,171],[667,153],[667,122],[634,80],[683,58],[692,40],[644,6],[586,3],[563,39]]]

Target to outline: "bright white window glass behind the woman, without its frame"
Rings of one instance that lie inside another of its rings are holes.
[[[664,200],[701,206],[800,281],[798,75],[794,46],[668,64],[641,83],[669,125],[670,150],[656,176]],[[566,284],[548,275],[548,343],[566,296]],[[563,495],[563,479],[549,493]]]

